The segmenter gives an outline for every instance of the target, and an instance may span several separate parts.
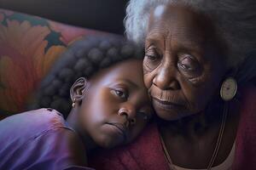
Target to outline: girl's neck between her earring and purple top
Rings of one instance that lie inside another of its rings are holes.
[[[78,106],[79,107],[79,106]],[[69,127],[72,127],[76,133],[79,134],[80,139],[82,140],[84,147],[87,152],[90,152],[91,150],[96,149],[97,145],[93,141],[93,139],[90,138],[90,135],[83,131],[79,126],[79,110],[75,107],[73,108],[70,113],[67,116],[67,123]]]

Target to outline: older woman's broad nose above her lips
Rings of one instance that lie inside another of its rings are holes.
[[[176,79],[175,69],[169,67],[160,68],[160,71],[155,75],[153,84],[162,90],[176,90],[180,88]]]

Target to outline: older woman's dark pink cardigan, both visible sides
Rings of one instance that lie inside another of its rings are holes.
[[[236,136],[236,153],[232,169],[256,169],[256,88],[242,91],[241,120]],[[149,125],[132,144],[105,150],[91,156],[90,167],[101,170],[167,170],[168,163],[160,144],[156,124]]]

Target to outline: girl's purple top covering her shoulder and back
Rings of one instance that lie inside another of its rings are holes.
[[[91,169],[83,167],[85,154],[78,161],[72,144],[83,146],[79,135],[55,110],[9,116],[0,122],[0,169]],[[81,150],[85,153],[84,146]]]

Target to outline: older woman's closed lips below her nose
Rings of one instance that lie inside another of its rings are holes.
[[[153,102],[154,108],[158,107],[158,108],[166,110],[166,111],[183,110],[183,107],[184,107],[184,105],[179,105],[176,103],[172,103],[169,101],[163,101],[163,100],[156,99],[156,98],[152,98],[152,102]]]

